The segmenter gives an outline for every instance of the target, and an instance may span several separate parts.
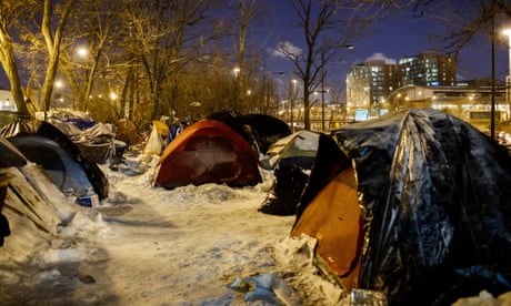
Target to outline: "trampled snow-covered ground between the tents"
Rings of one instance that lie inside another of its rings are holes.
[[[119,171],[102,166],[109,198],[72,204],[56,235],[13,228],[0,248],[0,305],[349,304],[312,265],[313,242],[289,237],[294,216],[258,212],[271,172],[254,187],[168,191],[151,186],[154,165],[128,153]],[[510,300],[482,293],[459,305]]]

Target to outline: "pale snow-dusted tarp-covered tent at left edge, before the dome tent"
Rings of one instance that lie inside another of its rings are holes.
[[[49,246],[50,239],[84,207],[74,205],[33,163],[0,169],[2,176],[8,177],[2,214],[9,222],[9,235],[0,248],[2,257],[9,258],[3,262],[6,272],[11,265],[33,259],[34,249]]]

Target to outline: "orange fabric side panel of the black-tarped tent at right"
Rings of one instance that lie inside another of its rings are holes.
[[[361,266],[362,220],[354,171],[348,167],[314,196],[291,232],[317,239],[317,256],[349,292],[357,287]]]

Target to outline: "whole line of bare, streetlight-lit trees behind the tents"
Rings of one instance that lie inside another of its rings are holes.
[[[294,44],[301,49],[279,44],[279,38],[275,45],[301,81],[305,129],[311,93],[323,86],[332,63],[368,34],[374,21],[403,12],[429,13],[445,22],[445,49],[455,53],[483,32],[491,18],[510,16],[505,0],[461,1],[465,10],[457,9],[458,1],[444,0],[285,1],[293,19],[281,27],[299,30],[301,39]],[[285,92],[279,92],[275,72],[265,67],[264,45],[253,34],[268,22],[271,4],[2,0],[0,63],[20,118],[62,106],[56,105],[59,96],[63,106],[102,122],[124,118],[144,124],[161,115],[194,120],[221,110],[275,115]]]

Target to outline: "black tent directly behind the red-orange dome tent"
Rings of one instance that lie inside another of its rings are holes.
[[[291,134],[285,122],[265,114],[240,114],[217,112],[207,119],[218,120],[237,131],[258,153],[265,154],[268,147],[279,139]]]

